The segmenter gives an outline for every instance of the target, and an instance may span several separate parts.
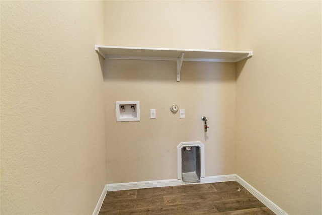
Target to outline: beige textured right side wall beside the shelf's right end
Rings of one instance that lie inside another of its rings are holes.
[[[236,174],[289,214],[321,214],[321,1],[238,3]]]

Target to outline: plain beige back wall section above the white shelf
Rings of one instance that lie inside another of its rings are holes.
[[[235,50],[235,1],[104,1],[105,45]]]

